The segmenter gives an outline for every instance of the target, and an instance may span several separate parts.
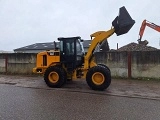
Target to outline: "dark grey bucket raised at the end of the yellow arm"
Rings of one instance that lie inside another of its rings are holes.
[[[117,36],[119,36],[127,33],[134,23],[135,20],[131,18],[126,8],[123,6],[119,9],[119,16],[113,20],[112,26],[114,27]]]

